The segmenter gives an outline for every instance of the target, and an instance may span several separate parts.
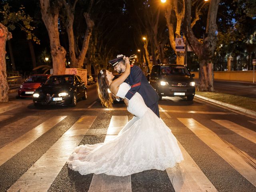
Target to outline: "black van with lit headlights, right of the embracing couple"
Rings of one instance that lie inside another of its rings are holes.
[[[149,75],[149,82],[159,95],[187,97],[192,101],[195,95],[194,74],[190,74],[184,65],[154,65]]]

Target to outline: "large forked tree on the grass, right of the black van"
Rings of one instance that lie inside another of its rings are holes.
[[[217,12],[220,0],[211,0],[208,8],[206,33],[203,42],[196,39],[191,28],[191,0],[185,0],[185,14],[182,24],[182,31],[186,36],[188,44],[198,56],[199,69],[199,91],[214,91],[213,87],[213,62],[212,58],[217,42]]]

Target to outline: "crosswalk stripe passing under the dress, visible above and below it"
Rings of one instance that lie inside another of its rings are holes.
[[[104,142],[113,140],[128,122],[128,116],[112,116]],[[94,174],[88,192],[132,192],[131,176]]]

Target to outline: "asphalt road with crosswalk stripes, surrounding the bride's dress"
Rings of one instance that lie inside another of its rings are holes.
[[[0,114],[0,191],[256,192],[256,118],[197,99],[163,97],[159,105],[185,160],[124,178],[82,176],[66,164],[75,146],[104,142],[112,117],[133,117],[124,103],[103,108],[95,84],[74,108],[28,104]],[[83,120],[81,136],[74,130]]]

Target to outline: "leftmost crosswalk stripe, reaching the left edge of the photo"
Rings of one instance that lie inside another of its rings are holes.
[[[22,149],[24,149],[26,146],[28,146],[30,143],[34,142],[34,140],[39,138],[42,134],[46,133],[64,118],[66,118],[66,116],[54,116],[42,124],[36,126],[24,135],[20,136],[16,140],[10,142],[6,146],[0,148],[0,166],[14,155],[16,155],[18,152],[20,152]]]

